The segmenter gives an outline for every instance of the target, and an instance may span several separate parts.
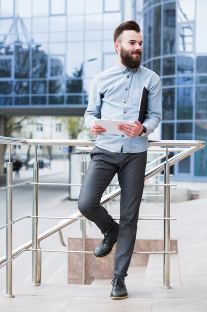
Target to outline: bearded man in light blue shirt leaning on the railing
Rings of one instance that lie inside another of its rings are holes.
[[[140,66],[142,37],[138,24],[131,20],[114,31],[118,54],[116,66],[95,76],[90,88],[85,122],[97,135],[91,161],[85,175],[79,200],[80,212],[99,227],[104,239],[93,255],[107,256],[116,244],[112,299],[128,297],[125,277],[135,246],[138,211],[143,192],[147,136],[158,127],[161,118],[160,79]],[[141,125],[138,108],[143,87],[148,90],[147,115]],[[94,119],[133,120],[135,127],[120,123],[123,135],[105,134],[94,125]],[[120,222],[113,220],[100,205],[106,187],[115,174],[121,187]]]

